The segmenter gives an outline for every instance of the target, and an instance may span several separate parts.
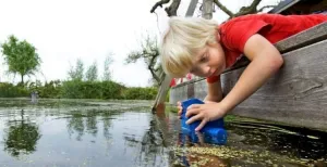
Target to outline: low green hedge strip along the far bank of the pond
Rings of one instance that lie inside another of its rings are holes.
[[[157,94],[155,87],[126,88],[114,81],[82,81],[82,80],[51,80],[41,85],[40,81],[29,85],[0,82],[0,98],[29,98],[37,91],[39,98],[64,99],[125,99],[125,100],[154,100]]]

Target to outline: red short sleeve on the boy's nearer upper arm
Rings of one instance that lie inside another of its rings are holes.
[[[231,21],[223,27],[222,42],[226,47],[243,53],[244,46],[251,36],[267,31],[270,27],[271,25],[259,18]]]

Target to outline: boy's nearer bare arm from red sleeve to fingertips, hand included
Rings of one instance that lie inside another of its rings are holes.
[[[233,89],[220,103],[194,104],[186,116],[194,115],[187,124],[202,119],[196,130],[207,121],[215,120],[231,111],[267,81],[282,65],[283,60],[278,50],[263,36],[253,35],[244,46],[244,53],[251,60]]]

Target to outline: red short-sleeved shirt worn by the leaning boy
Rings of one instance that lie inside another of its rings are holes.
[[[259,34],[271,43],[276,43],[326,21],[327,15],[324,14],[250,14],[232,18],[219,26],[226,67],[232,66],[238,61],[244,51],[245,42],[255,34]],[[207,82],[215,82],[218,77],[208,77]]]

